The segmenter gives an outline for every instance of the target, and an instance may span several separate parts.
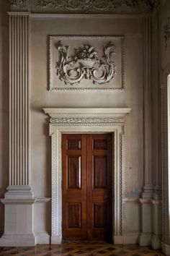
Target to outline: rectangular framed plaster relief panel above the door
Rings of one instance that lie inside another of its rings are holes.
[[[122,90],[124,36],[50,36],[50,90]]]

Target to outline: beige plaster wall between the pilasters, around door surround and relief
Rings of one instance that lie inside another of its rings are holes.
[[[43,107],[128,107],[132,111],[125,123],[122,195],[124,199],[138,198],[143,187],[143,19],[86,14],[31,17],[30,31],[30,184],[35,197],[50,197],[51,187],[50,137]],[[49,35],[125,35],[125,90],[48,91]],[[50,232],[49,204],[36,204],[34,208],[35,231]],[[124,202],[123,219],[124,232],[138,233],[139,204]]]

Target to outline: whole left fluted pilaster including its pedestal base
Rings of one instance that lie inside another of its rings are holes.
[[[33,246],[29,177],[29,13],[9,12],[9,187],[0,246]]]

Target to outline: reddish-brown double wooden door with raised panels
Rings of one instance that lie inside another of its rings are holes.
[[[112,135],[63,135],[63,239],[112,237]]]

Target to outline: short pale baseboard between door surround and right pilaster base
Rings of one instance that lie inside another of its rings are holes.
[[[138,244],[139,233],[127,233],[122,236],[113,236],[114,244]]]

